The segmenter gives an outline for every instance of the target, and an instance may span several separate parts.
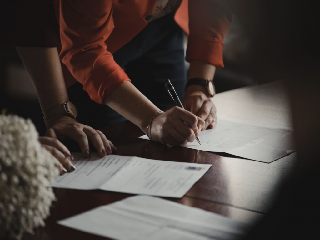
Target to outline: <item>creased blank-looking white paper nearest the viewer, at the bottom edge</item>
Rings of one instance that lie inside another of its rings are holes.
[[[158,197],[133,196],[59,224],[117,240],[239,239],[250,225]]]

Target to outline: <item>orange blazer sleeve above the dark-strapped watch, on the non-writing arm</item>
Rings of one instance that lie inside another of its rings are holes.
[[[222,68],[223,39],[231,22],[225,1],[189,0],[189,37],[186,60]]]

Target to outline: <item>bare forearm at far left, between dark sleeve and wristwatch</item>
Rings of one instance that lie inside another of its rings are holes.
[[[67,102],[57,48],[16,46],[16,49],[36,89],[42,112]]]

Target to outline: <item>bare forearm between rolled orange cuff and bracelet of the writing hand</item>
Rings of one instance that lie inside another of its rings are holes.
[[[124,82],[110,94],[105,99],[105,103],[145,133],[150,119],[160,111],[129,81]]]

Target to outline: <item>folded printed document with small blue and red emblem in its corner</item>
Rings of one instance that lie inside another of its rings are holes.
[[[139,157],[72,153],[76,170],[59,176],[53,187],[182,197],[211,164],[152,160]]]

